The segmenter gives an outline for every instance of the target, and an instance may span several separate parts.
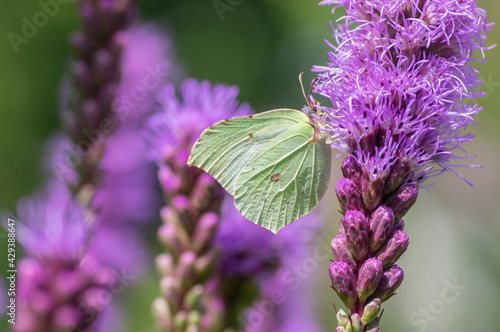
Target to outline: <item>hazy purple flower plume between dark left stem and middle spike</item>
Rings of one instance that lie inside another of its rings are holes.
[[[123,51],[121,80],[115,93],[114,131],[106,138],[99,163],[99,184],[92,197],[92,208],[106,224],[132,225],[156,215],[160,195],[155,167],[144,153],[142,123],[152,111],[160,86],[180,76],[174,47],[168,33],[153,24],[135,25],[121,32]],[[63,83],[62,100],[67,83]],[[62,104],[64,106],[64,103]],[[95,141],[107,134],[94,132]],[[84,152],[59,135],[49,144],[49,167],[59,180],[76,184],[76,167]]]

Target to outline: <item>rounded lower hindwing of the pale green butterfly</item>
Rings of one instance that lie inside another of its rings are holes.
[[[310,124],[295,124],[248,162],[234,192],[243,216],[277,233],[318,205],[330,181],[331,147],[313,142],[314,134]]]

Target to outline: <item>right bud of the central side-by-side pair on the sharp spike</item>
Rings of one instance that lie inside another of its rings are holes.
[[[379,206],[372,213],[369,222],[370,238],[368,249],[370,252],[376,252],[389,238],[394,226],[394,213],[386,206]]]

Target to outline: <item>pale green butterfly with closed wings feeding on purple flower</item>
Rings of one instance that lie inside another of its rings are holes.
[[[299,80],[302,85],[302,73]],[[283,108],[217,122],[188,159],[234,197],[245,218],[274,233],[309,214],[330,182],[330,137],[310,98],[314,82],[309,98],[302,87],[303,112]]]

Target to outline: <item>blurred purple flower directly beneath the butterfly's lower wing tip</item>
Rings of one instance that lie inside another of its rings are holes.
[[[214,238],[221,249],[217,273],[223,279],[249,278],[258,292],[257,300],[240,317],[244,331],[320,331],[311,280],[293,274],[312,257],[308,244],[318,226],[317,218],[304,217],[275,235],[241,216],[230,197],[225,201]],[[313,272],[308,278],[314,278]]]

